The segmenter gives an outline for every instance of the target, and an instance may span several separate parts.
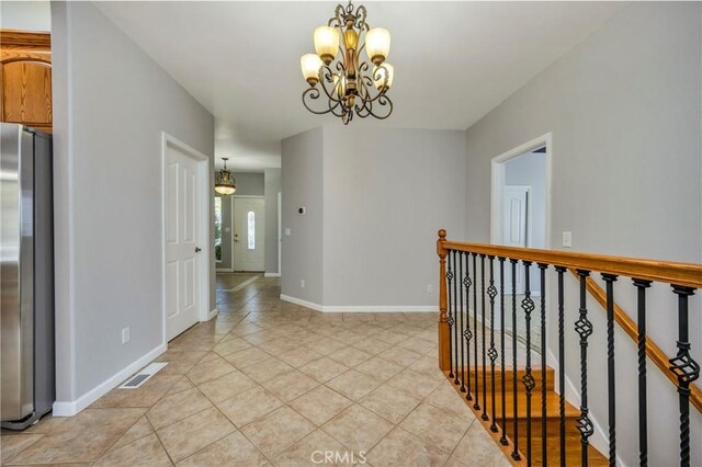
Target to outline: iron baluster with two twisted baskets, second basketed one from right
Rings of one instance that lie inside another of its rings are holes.
[[[580,335],[580,417],[578,418],[578,431],[580,432],[580,445],[582,447],[581,460],[584,467],[588,465],[588,441],[592,436],[593,428],[588,408],[588,338],[592,334],[592,323],[588,320],[587,309],[587,278],[589,271],[578,270],[580,278],[580,309],[575,329]]]

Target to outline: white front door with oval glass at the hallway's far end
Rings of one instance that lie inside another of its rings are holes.
[[[262,197],[234,200],[234,270],[264,271],[263,230],[264,201]]]

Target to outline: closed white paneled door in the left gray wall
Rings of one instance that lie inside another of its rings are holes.
[[[166,335],[170,341],[200,317],[200,175],[197,162],[166,149]]]

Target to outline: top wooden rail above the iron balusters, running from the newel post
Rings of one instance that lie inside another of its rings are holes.
[[[534,248],[502,247],[486,243],[465,243],[448,240],[441,242],[440,247],[443,248],[443,251],[439,251],[439,253],[443,252],[444,254],[448,250],[466,251],[702,288],[702,264],[537,250]]]

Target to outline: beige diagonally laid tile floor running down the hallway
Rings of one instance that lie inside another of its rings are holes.
[[[437,368],[434,314],[319,314],[242,282],[218,275],[217,318],[141,388],[3,431],[2,464],[510,465]]]

